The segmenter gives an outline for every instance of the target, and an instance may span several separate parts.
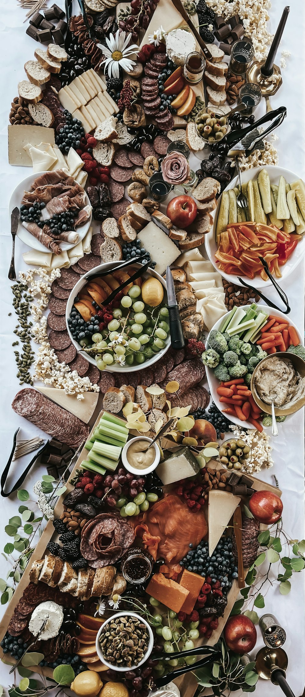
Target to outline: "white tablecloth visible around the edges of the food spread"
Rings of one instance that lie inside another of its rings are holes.
[[[59,5],[63,2],[59,1]],[[273,0],[270,11],[272,31],[275,31],[279,17],[285,6],[285,0]],[[77,7],[75,8],[78,12]],[[11,238],[8,218],[8,201],[13,189],[28,176],[30,170],[24,167],[10,167],[7,158],[7,125],[10,102],[17,95],[17,83],[24,79],[24,63],[33,58],[36,43],[26,36],[25,10],[17,5],[16,0],[2,0],[0,15],[1,30],[1,101],[0,101],[0,144],[1,144],[1,174],[0,174],[0,230],[1,230],[1,325],[0,325],[0,432],[1,454],[3,465],[10,454],[13,434],[18,426],[21,426],[20,438],[31,438],[38,433],[25,420],[17,417],[10,408],[13,397],[19,390],[19,381],[16,378],[16,367],[11,346],[15,335],[13,329],[17,318],[12,308],[12,293],[8,281],[8,268],[10,266]],[[279,48],[277,63],[281,59],[281,51],[286,49],[291,55],[286,59],[287,67],[282,70],[283,86],[272,97],[272,107],[286,105],[288,115],[281,128],[276,131],[279,140],[276,147],[279,151],[279,165],[295,172],[297,176],[305,178],[305,135],[304,135],[304,33],[305,33],[305,8],[304,0],[293,0],[290,7],[290,15],[286,24],[284,36]],[[265,102],[264,102],[265,104]],[[259,115],[264,113],[264,105],[260,105]],[[197,161],[198,162],[198,161]],[[197,164],[198,166],[198,164]],[[297,177],[296,177],[297,178]],[[26,251],[25,245],[16,240],[15,266],[16,271],[25,267],[22,260],[22,252]],[[288,294],[291,306],[290,317],[299,330],[304,329],[304,261],[297,267],[294,274],[287,282],[283,283],[283,289]],[[267,295],[275,298],[271,289],[267,289]],[[8,313],[12,316],[8,317]],[[22,421],[22,424],[21,424]],[[279,437],[273,439],[274,468],[261,473],[261,478],[274,484],[273,474],[279,480],[279,486],[283,490],[283,521],[288,538],[303,539],[304,530],[304,411],[294,415],[287,423],[280,427]],[[22,471],[22,461],[17,461],[13,481],[19,477]],[[37,470],[26,480],[26,489],[31,492],[33,483],[44,473]],[[11,478],[12,479],[12,478]],[[17,514],[19,502],[15,495],[1,499],[0,506],[0,551],[8,542],[4,533],[4,526],[8,519]],[[2,558],[0,576],[6,576],[8,568]],[[287,633],[285,650],[288,653],[289,666],[287,671],[288,682],[295,692],[296,697],[302,694],[305,684],[305,572],[293,574],[292,590],[290,595],[281,596],[279,585],[269,588],[265,599],[265,610],[258,611],[263,614],[269,611],[276,615],[279,623]],[[264,586],[264,592],[267,590]],[[1,606],[1,615],[5,606]],[[263,645],[258,638],[256,650]],[[0,683],[8,687],[12,680],[8,677],[8,668],[0,664]],[[279,694],[279,687],[259,680],[256,686],[258,697]]]

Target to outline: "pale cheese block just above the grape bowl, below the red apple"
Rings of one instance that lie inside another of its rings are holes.
[[[178,247],[154,222],[149,222],[139,232],[138,238],[143,243],[143,247],[146,248],[146,252],[150,253],[153,261],[157,261],[155,271],[161,275],[166,271],[166,266],[171,266],[171,263],[180,256]]]

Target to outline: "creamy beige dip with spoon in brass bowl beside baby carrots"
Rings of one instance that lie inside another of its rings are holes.
[[[272,404],[273,399],[277,408],[295,404],[305,394],[305,378],[295,371],[291,360],[276,355],[258,368],[254,383],[260,399],[265,404]]]

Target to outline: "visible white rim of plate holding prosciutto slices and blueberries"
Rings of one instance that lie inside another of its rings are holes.
[[[24,195],[24,191],[30,191],[31,186],[33,181],[38,177],[42,176],[42,174],[49,174],[48,172],[38,172],[37,174],[30,174],[30,176],[27,176],[25,179],[22,179],[22,181],[17,184],[16,188],[13,191],[13,194],[10,197],[10,203],[8,204],[8,213],[9,215],[12,213],[13,208],[17,206],[17,208],[20,208],[20,204]],[[77,184],[77,182],[73,182],[73,185]],[[86,194],[86,199],[85,199],[85,206],[91,206],[91,203],[88,199],[88,196]],[[79,234],[79,240],[84,239],[84,236],[88,232],[89,227],[91,226],[91,218],[92,218],[92,209],[91,209],[91,216],[88,218],[87,222],[84,225],[81,225],[81,227],[77,228],[77,232]],[[22,240],[25,245],[28,245],[28,247],[31,247],[32,250],[38,250],[38,252],[49,252],[47,247],[45,245],[42,245],[42,243],[39,240],[36,240],[36,237],[31,235],[29,230],[26,230],[25,227],[23,227],[22,223],[19,221],[18,229],[17,229],[17,237],[19,237],[19,240]],[[54,240],[56,241],[56,240]],[[78,244],[78,243],[77,243]],[[72,247],[75,247],[75,244],[69,243],[69,242],[61,242],[59,243],[59,247],[61,248],[61,251],[64,252],[65,250],[70,250]]]

